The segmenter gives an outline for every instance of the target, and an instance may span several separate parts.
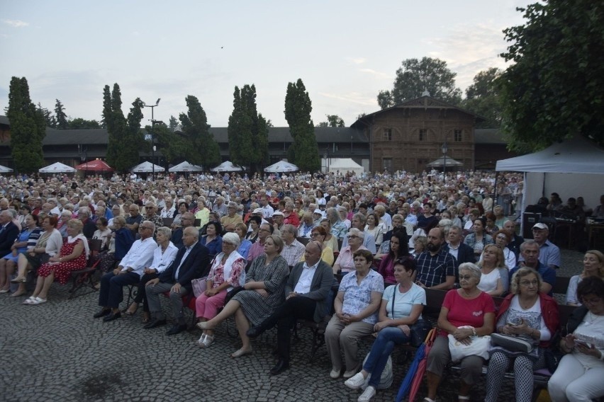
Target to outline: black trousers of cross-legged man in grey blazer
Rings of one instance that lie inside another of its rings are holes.
[[[291,328],[296,319],[314,320],[317,302],[308,297],[290,297],[274,311],[269,318],[260,324],[266,331],[277,324],[277,353],[279,358],[289,363],[289,349],[291,346]]]

